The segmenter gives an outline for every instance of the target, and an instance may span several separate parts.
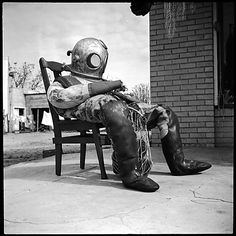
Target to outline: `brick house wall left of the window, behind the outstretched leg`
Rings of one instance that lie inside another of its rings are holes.
[[[151,100],[178,115],[184,146],[214,146],[212,3],[195,2],[196,10],[166,34],[164,3],[150,11]],[[152,145],[159,145],[159,131]]]

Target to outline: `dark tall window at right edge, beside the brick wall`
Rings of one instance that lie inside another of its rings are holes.
[[[218,105],[234,104],[234,2],[217,3]]]

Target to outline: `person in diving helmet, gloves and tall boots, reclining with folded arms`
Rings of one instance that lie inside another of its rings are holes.
[[[71,65],[64,66],[71,73],[54,80],[47,91],[48,100],[65,118],[102,123],[106,127],[114,150],[113,171],[116,164],[125,187],[144,192],[154,192],[159,188],[156,182],[140,174],[136,168],[138,143],[128,118],[129,103],[144,111],[148,130],[159,128],[162,150],[172,175],[196,174],[211,167],[206,162],[185,159],[178,118],[169,107],[143,104],[124,94],[123,97],[117,96],[121,94],[119,91],[124,91],[122,81],[102,78],[108,59],[104,42],[84,38],[67,52],[68,56],[70,54]]]

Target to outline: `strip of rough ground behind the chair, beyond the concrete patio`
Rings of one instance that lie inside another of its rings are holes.
[[[78,133],[68,132],[65,136]],[[3,165],[4,167],[16,163],[42,159],[54,155],[52,143],[53,131],[30,132],[30,133],[6,133],[3,135]],[[89,144],[88,148],[94,145]],[[77,153],[78,144],[63,144],[63,153]]]

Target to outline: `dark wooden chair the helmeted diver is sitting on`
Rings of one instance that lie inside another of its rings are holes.
[[[43,77],[44,87],[47,93],[48,87],[50,85],[49,76],[47,68],[53,71],[54,77],[57,78],[61,75],[63,71],[63,64],[46,61],[43,57],[39,60],[39,65]],[[106,170],[104,167],[103,151],[102,145],[109,144],[109,139],[106,134],[101,134],[100,128],[104,128],[102,124],[90,123],[87,121],[81,121],[78,119],[64,119],[60,120],[59,115],[54,110],[53,106],[49,103],[49,109],[52,115],[53,121],[53,131],[54,138],[53,143],[55,144],[55,167],[56,175],[61,175],[61,163],[62,163],[62,144],[64,143],[80,143],[80,168],[84,169],[85,167],[85,154],[86,154],[86,144],[95,143],[101,178],[107,179]],[[76,136],[62,136],[62,131],[78,131],[80,134]],[[88,132],[90,131],[90,133]],[[92,134],[91,134],[92,131]],[[103,139],[102,139],[103,138]]]

